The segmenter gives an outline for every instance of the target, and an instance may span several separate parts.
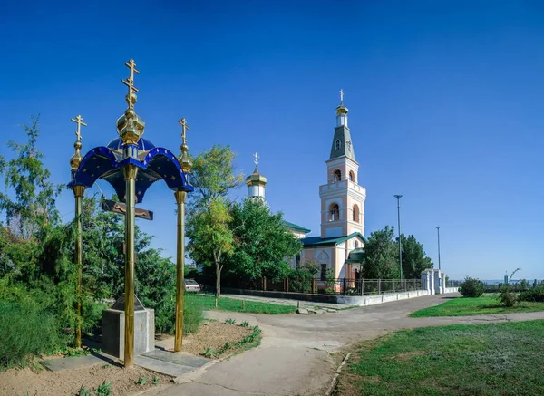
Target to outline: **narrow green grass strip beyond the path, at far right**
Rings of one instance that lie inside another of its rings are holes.
[[[527,303],[507,308],[499,305],[497,295],[482,295],[481,297],[459,297],[443,304],[424,308],[411,314],[411,317],[430,316],[465,316],[473,314],[510,314],[516,312],[544,311],[544,303]]]

